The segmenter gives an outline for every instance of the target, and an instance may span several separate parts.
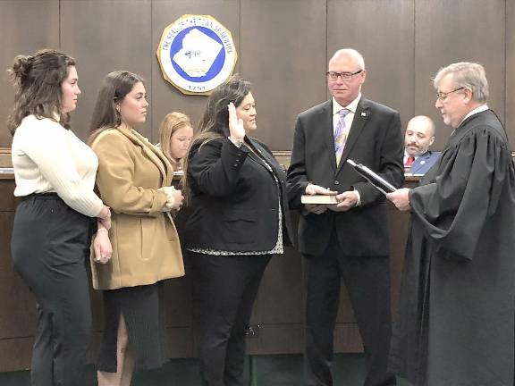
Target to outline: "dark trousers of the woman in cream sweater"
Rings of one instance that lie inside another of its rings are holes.
[[[38,306],[32,386],[83,382],[91,332],[86,258],[90,219],[55,194],[31,195],[16,209],[11,253]]]

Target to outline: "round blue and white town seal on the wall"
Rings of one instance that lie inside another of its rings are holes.
[[[183,15],[163,31],[157,47],[163,77],[184,94],[208,95],[234,70],[231,32],[208,15]]]

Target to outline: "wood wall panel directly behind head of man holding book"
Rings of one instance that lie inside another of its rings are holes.
[[[413,114],[413,0],[328,0],[327,59],[339,48],[365,58],[363,96]]]

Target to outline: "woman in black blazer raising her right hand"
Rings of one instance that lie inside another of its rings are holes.
[[[291,239],[285,174],[268,147],[249,137],[257,125],[248,81],[233,76],[215,88],[199,126],[184,190],[200,373],[204,386],[241,386],[259,282]]]

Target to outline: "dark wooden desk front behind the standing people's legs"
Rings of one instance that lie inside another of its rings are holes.
[[[409,177],[407,185],[417,184]],[[34,299],[20,277],[13,272],[10,240],[16,199],[13,197],[13,175],[0,175],[0,372],[25,369],[30,366],[30,353],[36,327]],[[404,245],[409,214],[400,213],[389,205],[391,239],[392,298],[397,304]],[[176,218],[179,232],[183,229],[188,209]],[[188,270],[188,259],[185,258]],[[191,288],[188,275],[167,281],[166,321],[170,332],[170,357],[194,357],[197,351],[192,330]],[[91,290],[94,314],[91,356],[96,352],[102,331],[100,294]],[[259,325],[258,334],[249,337],[249,354],[291,354],[303,350],[304,287],[300,254],[286,248],[283,256],[274,256],[258,293],[251,324]],[[362,351],[359,331],[350,301],[342,289],[340,311],[335,331],[337,352]]]

